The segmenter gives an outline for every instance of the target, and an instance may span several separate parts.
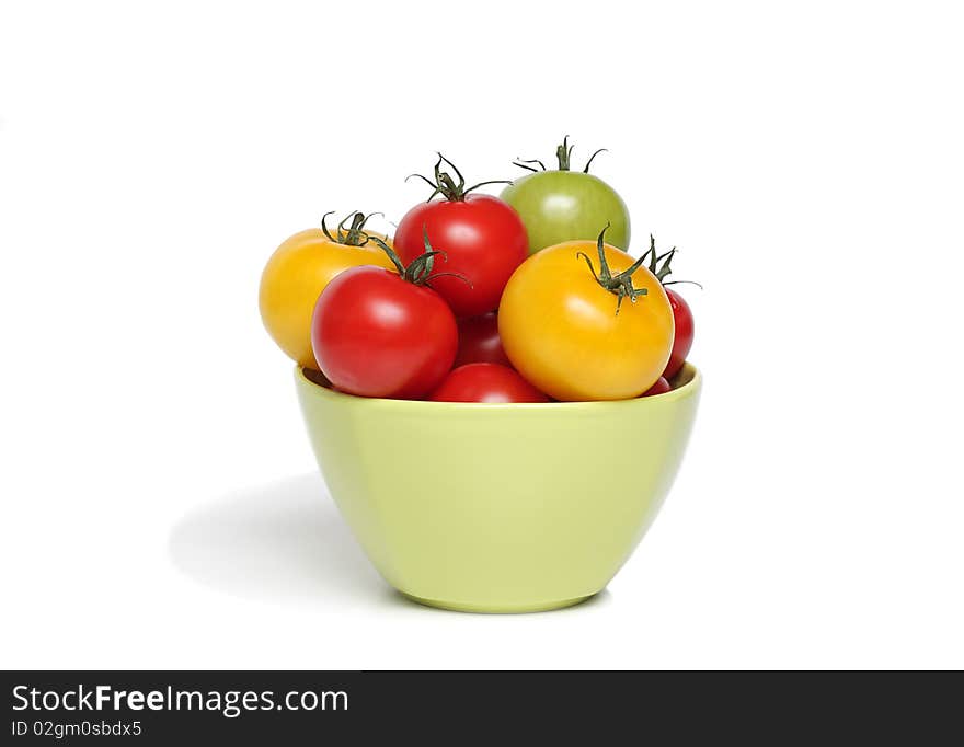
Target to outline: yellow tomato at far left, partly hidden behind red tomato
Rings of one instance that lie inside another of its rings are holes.
[[[268,334],[299,366],[314,368],[311,352],[311,313],[325,286],[338,273],[359,265],[392,268],[381,249],[369,243],[366,216],[356,212],[352,227],[347,218],[332,233],[324,226],[310,228],[286,240],[272,254],[261,276],[259,303]],[[387,241],[387,240],[386,240]]]

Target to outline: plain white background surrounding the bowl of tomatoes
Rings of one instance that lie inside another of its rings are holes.
[[[964,666],[961,36],[927,2],[3,3],[0,660]],[[691,448],[597,600],[413,606],[259,275],[325,210],[398,220],[437,149],[498,179],[566,133],[705,286]]]

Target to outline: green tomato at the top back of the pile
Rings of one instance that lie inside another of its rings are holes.
[[[629,210],[611,186],[588,173],[593,158],[585,171],[570,171],[572,146],[567,138],[555,154],[559,159],[558,171],[547,171],[541,161],[517,162],[516,165],[535,173],[516,180],[501,195],[521,216],[529,234],[529,252],[535,253],[563,241],[595,240],[599,229],[607,222],[611,226],[609,243],[627,249],[630,238]],[[537,171],[529,165],[531,163],[538,163],[542,170]]]

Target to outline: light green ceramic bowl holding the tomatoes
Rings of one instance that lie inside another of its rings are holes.
[[[606,587],[656,517],[700,393],[474,404],[352,397],[296,371],[318,463],[385,579],[434,607],[529,612]]]

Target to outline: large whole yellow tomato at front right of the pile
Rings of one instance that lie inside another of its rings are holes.
[[[530,256],[498,307],[498,333],[513,366],[556,400],[639,397],[669,359],[674,322],[666,291],[642,266],[644,257],[633,262],[604,243],[605,233],[595,244],[569,241]]]

